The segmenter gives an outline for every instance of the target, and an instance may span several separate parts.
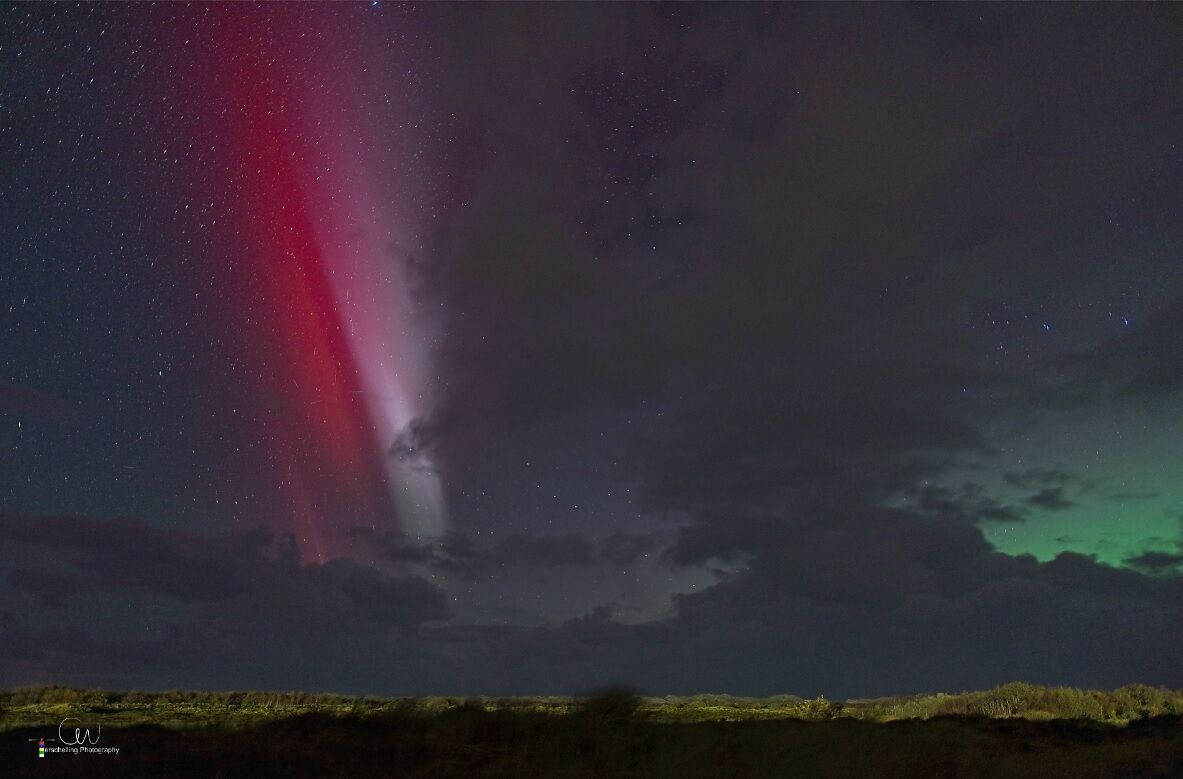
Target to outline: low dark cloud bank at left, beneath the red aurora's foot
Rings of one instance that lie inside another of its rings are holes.
[[[440,590],[416,577],[389,575],[349,559],[303,564],[290,536],[265,528],[198,536],[132,520],[0,516],[12,548],[57,560],[52,574],[13,571],[11,586],[64,607],[83,593],[132,591],[175,599],[182,609],[231,604],[291,618],[414,629],[447,616]]]

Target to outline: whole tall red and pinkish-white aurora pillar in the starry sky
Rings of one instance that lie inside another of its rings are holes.
[[[335,25],[304,43],[298,14],[269,21],[274,26],[263,39],[232,21],[195,32],[196,45],[208,41],[201,49],[216,54],[202,59],[199,49],[203,72],[190,99],[218,105],[211,156],[226,180],[213,186],[234,187],[227,205],[241,221],[235,236],[257,258],[234,263],[224,283],[261,287],[241,314],[272,323],[263,348],[282,355],[258,387],[290,399],[279,419],[269,419],[271,478],[302,552],[323,562],[343,541],[325,527],[324,516],[342,510],[327,491],[348,501],[349,511],[396,511],[415,536],[442,529],[432,463],[393,453],[429,411],[424,330],[431,322],[397,262],[397,253],[422,246],[427,193],[415,184],[419,153],[381,147],[379,120],[369,111],[358,118],[367,99],[381,99],[392,123],[406,124],[421,109],[414,95],[392,98],[369,83],[364,65],[337,60]],[[293,452],[304,462],[293,462]],[[384,483],[384,496],[375,483]]]

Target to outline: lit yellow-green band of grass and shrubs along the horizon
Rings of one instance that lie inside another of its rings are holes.
[[[851,717],[874,722],[936,716],[1022,717],[1027,720],[1091,720],[1123,725],[1164,715],[1183,715],[1183,690],[1130,684],[1112,691],[1071,687],[1040,687],[1013,682],[985,691],[912,695],[871,700],[829,701],[795,695],[754,698],[731,695],[641,697],[628,690],[593,698],[562,696],[525,697],[350,697],[309,693],[162,693],[86,690],[70,687],[32,687],[0,690],[0,729],[50,721],[60,710],[86,712],[98,721],[119,725],[151,722],[185,726],[258,720],[304,714],[383,714],[431,716],[452,709],[483,712],[582,713],[610,717],[627,710],[631,716],[654,721],[833,720]]]

